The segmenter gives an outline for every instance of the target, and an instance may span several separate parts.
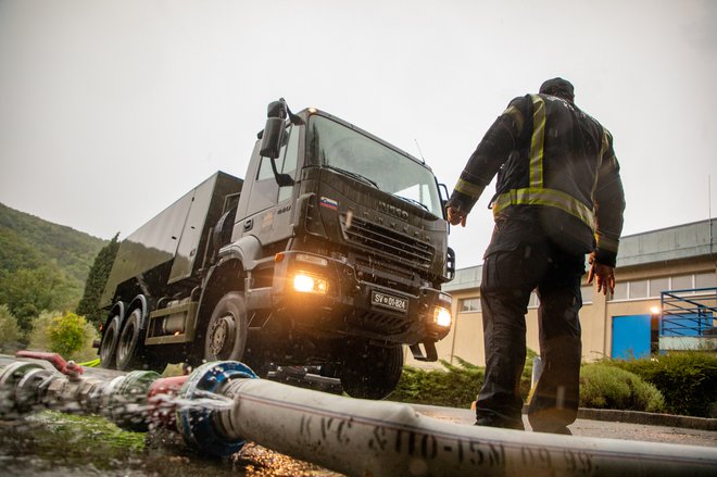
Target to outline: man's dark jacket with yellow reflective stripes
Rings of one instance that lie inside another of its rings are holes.
[[[615,266],[625,193],[613,137],[598,121],[554,96],[514,99],[468,160],[449,205],[469,212],[495,174],[496,221],[539,221],[566,251],[594,251],[599,263]]]

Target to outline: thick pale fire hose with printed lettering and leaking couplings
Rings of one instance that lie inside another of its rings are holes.
[[[21,352],[22,353],[22,352]],[[251,440],[350,476],[717,475],[717,449],[453,424],[406,404],[259,379],[238,362],[189,376],[92,374],[23,353],[0,371],[0,419],[43,409],[99,414],[128,430],[166,427],[197,451],[230,455]]]

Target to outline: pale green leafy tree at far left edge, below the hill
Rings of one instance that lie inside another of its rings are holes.
[[[78,294],[77,288],[53,263],[0,273],[0,303],[8,305],[25,334],[42,310],[73,309]]]

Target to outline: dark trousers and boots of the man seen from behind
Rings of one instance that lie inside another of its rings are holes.
[[[540,224],[499,219],[483,262],[480,299],[486,379],[476,414],[495,425],[521,423],[520,376],[526,360],[526,322],[532,290],[538,310],[543,371],[529,405],[533,430],[559,431],[577,416],[581,359],[580,277],[584,254],[569,253]],[[502,424],[501,424],[502,423]]]

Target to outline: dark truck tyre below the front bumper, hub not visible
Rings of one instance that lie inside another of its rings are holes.
[[[341,369],[347,394],[361,399],[383,399],[395,389],[403,372],[403,349],[368,346],[350,353]]]

